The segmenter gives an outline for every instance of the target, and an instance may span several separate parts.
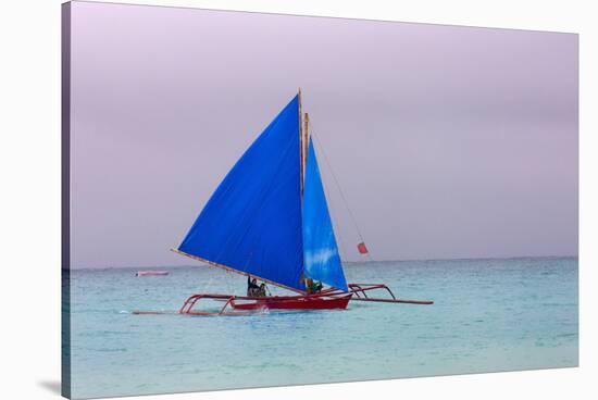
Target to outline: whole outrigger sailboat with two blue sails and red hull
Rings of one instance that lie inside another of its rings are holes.
[[[172,249],[297,295],[192,295],[179,314],[344,310],[349,301],[433,304],[428,300],[398,299],[384,284],[347,283],[308,127],[309,115],[302,112],[299,89],[226,175],[180,246]],[[363,241],[358,251],[367,254]],[[306,286],[313,280],[328,288],[313,292]],[[387,296],[372,297],[374,291]],[[201,300],[224,304],[216,311],[197,310]]]

